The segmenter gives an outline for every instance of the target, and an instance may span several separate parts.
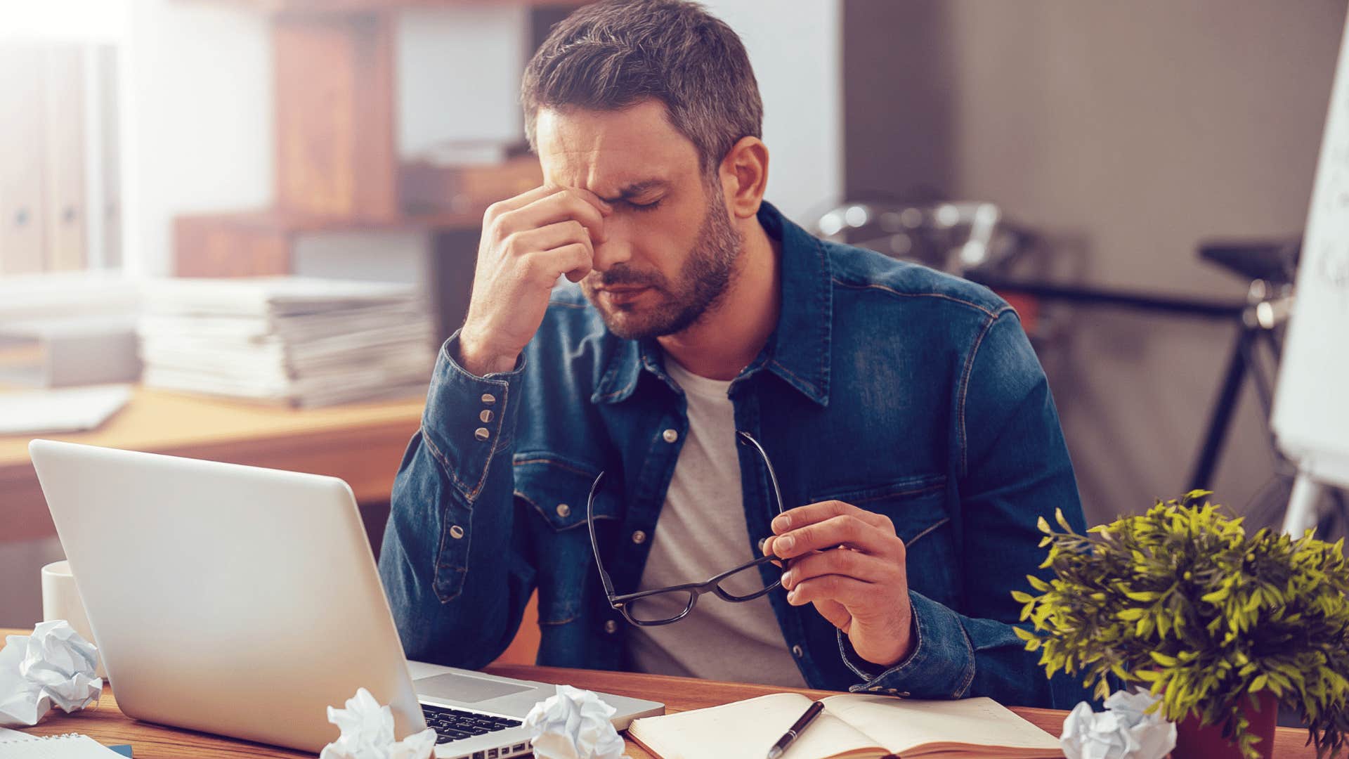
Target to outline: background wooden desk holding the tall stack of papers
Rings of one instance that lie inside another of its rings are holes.
[[[360,502],[387,501],[424,398],[290,409],[138,388],[92,432],[42,435],[175,456],[340,477]],[[0,543],[55,535],[28,461],[34,435],[0,436]]]

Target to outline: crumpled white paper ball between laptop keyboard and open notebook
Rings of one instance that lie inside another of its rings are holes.
[[[525,717],[536,759],[619,759],[623,739],[610,721],[614,712],[594,691],[558,685]]]

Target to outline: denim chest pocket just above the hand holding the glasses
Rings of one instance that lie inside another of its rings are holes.
[[[838,489],[811,501],[843,501],[889,517],[904,540],[909,589],[955,608],[960,570],[946,509],[946,475],[908,477],[873,488]]]

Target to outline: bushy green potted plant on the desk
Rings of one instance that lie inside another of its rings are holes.
[[[1040,519],[1050,554],[1029,577],[1017,628],[1047,675],[1112,678],[1160,696],[1179,723],[1175,756],[1269,756],[1279,702],[1337,756],[1349,728],[1349,563],[1329,544],[1260,529],[1209,504],[1207,492],[1157,501],[1141,516],[1075,533]],[[1203,501],[1202,504],[1199,501]],[[1219,739],[1219,748],[1195,740]],[[1225,754],[1218,754],[1222,751]]]

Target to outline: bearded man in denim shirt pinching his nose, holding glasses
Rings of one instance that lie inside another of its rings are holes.
[[[407,655],[488,663],[537,589],[544,664],[1077,701],[1012,627],[1037,517],[1083,527],[1016,313],[765,203],[754,74],[697,5],[575,12],[522,103],[546,184],[484,216],[384,533]],[[587,511],[616,596],[785,567],[611,604]]]

